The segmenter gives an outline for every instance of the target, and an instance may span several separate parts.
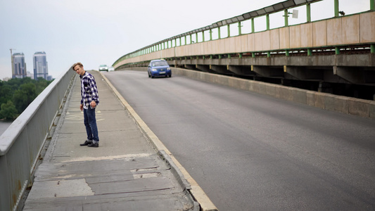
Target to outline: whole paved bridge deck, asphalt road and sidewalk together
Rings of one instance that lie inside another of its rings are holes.
[[[375,129],[369,118],[178,75],[148,79],[140,71],[105,73],[186,171],[119,92],[108,87],[106,77],[93,74],[101,96],[100,147],[78,145],[85,132],[76,78],[24,210],[194,210],[191,194],[203,210],[215,210],[215,205],[220,210],[374,208]],[[238,106],[223,106],[223,101]],[[275,103],[280,103],[277,110]],[[239,122],[243,117],[245,124]]]

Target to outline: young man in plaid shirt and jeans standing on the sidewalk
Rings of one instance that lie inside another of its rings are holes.
[[[98,147],[98,127],[96,126],[95,108],[99,104],[98,89],[94,76],[84,71],[82,63],[75,63],[72,69],[81,78],[81,105],[83,110],[84,126],[86,127],[87,140],[80,146]]]

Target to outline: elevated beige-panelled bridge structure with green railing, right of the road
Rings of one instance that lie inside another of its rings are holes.
[[[314,3],[319,1],[283,1],[221,20],[127,53],[113,66],[116,70],[146,67],[150,60],[164,58],[176,68],[291,87],[305,84],[299,87],[331,94],[345,95],[344,89],[364,85],[351,96],[374,99],[374,1],[369,1],[368,11],[341,15],[336,0],[334,17],[312,22],[310,4]],[[306,6],[307,22],[288,25],[288,9],[297,6]],[[269,28],[269,15],[283,11],[284,27]],[[255,32],[254,20],[262,16],[267,30]],[[252,23],[249,34],[241,33],[244,21]],[[230,30],[233,25],[239,26],[239,32]],[[223,30],[227,37],[221,37]],[[214,32],[217,39],[212,39]]]

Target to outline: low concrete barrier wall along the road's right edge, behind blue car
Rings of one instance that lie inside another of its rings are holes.
[[[127,68],[127,70],[147,71],[147,68]],[[293,101],[295,103],[303,103],[308,106],[314,106],[325,110],[375,119],[375,101],[337,96],[334,94],[308,91],[293,87],[284,87],[278,84],[268,84],[265,82],[256,82],[248,79],[240,79],[182,68],[172,68],[172,75],[184,75],[191,79],[198,79],[203,82],[222,84],[224,86],[253,91],[259,94],[265,94],[286,101]]]

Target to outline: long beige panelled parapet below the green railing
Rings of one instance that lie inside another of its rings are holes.
[[[339,54],[341,49],[367,49],[375,44],[375,12],[341,16],[313,23],[281,27],[264,32],[243,34],[212,41],[204,41],[170,49],[161,49],[139,56],[119,59],[113,66],[148,62],[158,58],[190,58],[196,56],[230,55],[231,53],[250,54],[252,57],[267,57],[293,52]],[[372,65],[372,64],[371,64]]]

